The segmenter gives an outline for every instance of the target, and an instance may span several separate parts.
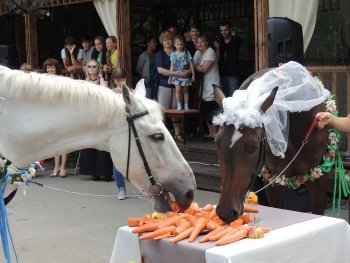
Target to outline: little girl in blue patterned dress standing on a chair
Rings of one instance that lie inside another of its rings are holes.
[[[179,36],[179,35],[175,36],[174,47],[176,48],[176,51],[172,52],[170,55],[171,71],[182,71],[182,70],[188,70],[190,68],[192,72],[191,80],[189,78],[179,78],[176,76],[169,77],[169,80],[168,80],[169,84],[175,85],[176,103],[177,103],[178,111],[182,110],[181,93],[184,94],[185,111],[189,110],[188,86],[192,84],[191,81],[195,81],[194,64],[193,64],[192,56],[188,51],[185,51],[184,43],[185,41],[182,36]]]

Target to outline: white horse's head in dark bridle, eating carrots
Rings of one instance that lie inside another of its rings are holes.
[[[126,136],[111,137],[110,145],[118,148],[110,149],[113,162],[126,175],[130,147],[130,182],[144,195],[150,196],[157,211],[170,210],[169,200],[159,196],[160,192],[171,193],[179,207],[185,210],[191,204],[196,188],[193,172],[163,123],[159,104],[145,99],[144,95],[142,84],[137,85],[135,94],[125,85],[122,88],[127,112],[125,120],[128,119],[130,130],[128,125],[118,127],[125,131]]]

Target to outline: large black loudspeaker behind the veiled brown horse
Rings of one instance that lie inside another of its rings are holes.
[[[267,20],[269,67],[279,63],[296,61],[304,63],[302,26],[287,17],[271,17]]]

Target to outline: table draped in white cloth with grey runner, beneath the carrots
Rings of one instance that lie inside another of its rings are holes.
[[[139,242],[129,227],[121,227],[110,263],[283,263],[350,262],[350,227],[343,219],[260,206],[256,225],[273,229],[263,239],[243,239],[225,246],[187,240]]]

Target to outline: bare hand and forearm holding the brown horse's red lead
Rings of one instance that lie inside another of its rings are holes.
[[[330,112],[319,112],[316,117],[318,118],[318,127],[321,129],[329,124],[340,132],[350,132],[350,114],[346,117],[337,117]]]

